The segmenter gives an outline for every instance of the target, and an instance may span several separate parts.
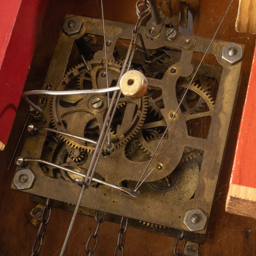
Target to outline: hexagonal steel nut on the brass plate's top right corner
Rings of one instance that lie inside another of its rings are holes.
[[[228,52],[235,49],[235,53],[233,51],[234,55],[230,55]],[[222,48],[222,59],[230,64],[235,64],[236,62],[243,59],[243,48],[235,43],[230,43],[225,45]]]

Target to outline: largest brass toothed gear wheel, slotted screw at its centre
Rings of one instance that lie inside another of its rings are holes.
[[[56,91],[77,89],[99,89],[106,88],[106,62],[105,60],[92,60],[88,62],[89,70],[84,64],[79,64],[70,69],[53,88]],[[115,86],[118,80],[122,63],[108,61],[109,86]],[[111,100],[111,93],[110,100]],[[102,101],[100,108],[93,107],[93,99]],[[116,113],[112,122],[111,142],[114,149],[119,148],[134,137],[144,123],[147,113],[147,96],[141,99],[130,100],[121,96]],[[86,94],[54,96],[50,102],[50,116],[55,129],[69,132],[81,137],[97,140],[105,114],[108,101],[106,94]],[[83,149],[93,153],[95,144],[74,139],[66,135],[59,135],[70,147]]]

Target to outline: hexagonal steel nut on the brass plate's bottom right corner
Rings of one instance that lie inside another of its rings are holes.
[[[191,217],[194,222],[191,220]],[[200,208],[189,209],[186,212],[183,220],[184,224],[190,231],[198,231],[204,229],[206,221],[207,215]]]

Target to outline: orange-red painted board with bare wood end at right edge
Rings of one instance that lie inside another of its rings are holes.
[[[226,211],[256,218],[256,48],[245,98]]]

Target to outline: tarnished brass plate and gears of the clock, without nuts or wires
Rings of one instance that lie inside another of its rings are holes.
[[[104,88],[106,67],[108,84],[116,85],[133,25],[105,21],[108,40],[111,41],[105,60],[102,21],[87,17],[79,19],[83,22],[80,33],[72,36],[63,31],[60,33],[43,88],[49,82],[55,60],[52,90]],[[98,179],[118,186],[135,187],[196,70],[200,61],[197,54],[204,53],[211,40],[179,32],[172,40],[167,40],[166,30],[163,27],[157,37],[152,36],[149,40],[145,27],[140,29],[150,58],[144,60],[144,53],[138,46],[131,67],[146,76],[148,92],[135,100],[121,96],[111,127],[114,149],[102,152],[95,172]],[[188,39],[189,44],[186,43]],[[89,70],[80,64],[82,58],[77,42],[83,42],[87,49],[88,56],[84,57]],[[199,69],[167,136],[149,165],[148,172],[153,167],[156,170],[140,187],[140,196],[133,198],[93,183],[84,193],[82,206],[127,216],[138,223],[141,220],[142,223],[182,229],[188,233],[183,223],[188,209],[200,208],[209,218],[241,69],[241,61],[231,66],[222,60],[222,48],[227,44],[229,42],[213,41],[208,51],[213,63],[204,63]],[[111,93],[109,97],[111,99]],[[97,108],[93,107],[98,101]],[[34,120],[34,125],[52,126],[97,140],[107,107],[107,94],[47,97],[43,108],[46,123]],[[84,144],[64,135],[56,137],[41,130],[29,136],[21,157],[43,158],[86,173],[94,147],[90,143]],[[73,182],[77,178],[75,175],[37,163],[29,163],[28,168],[36,179],[26,192],[76,204],[80,188]],[[13,184],[12,188],[17,189]],[[206,228],[207,224],[195,234],[205,234]]]

